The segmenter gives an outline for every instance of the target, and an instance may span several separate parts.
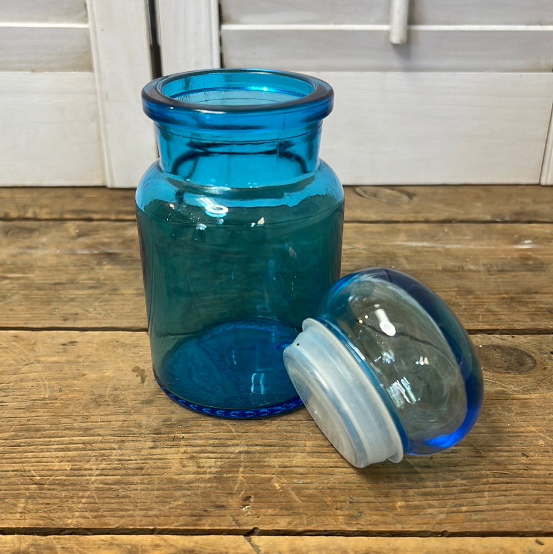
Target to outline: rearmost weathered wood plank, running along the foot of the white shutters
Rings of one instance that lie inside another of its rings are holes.
[[[553,222],[553,192],[537,185],[347,186],[349,222]],[[135,220],[135,191],[0,188],[2,219]]]

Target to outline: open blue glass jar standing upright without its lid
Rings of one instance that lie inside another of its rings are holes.
[[[152,81],[136,192],[154,375],[221,417],[301,406],[282,353],[339,277],[343,191],[318,158],[327,83],[223,69]]]

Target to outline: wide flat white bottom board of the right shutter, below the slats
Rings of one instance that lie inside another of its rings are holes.
[[[346,184],[537,183],[553,74],[316,73],[321,156]]]

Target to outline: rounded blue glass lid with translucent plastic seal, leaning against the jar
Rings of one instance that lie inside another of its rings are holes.
[[[392,269],[335,283],[284,357],[314,420],[360,468],[451,447],[482,406],[463,327],[430,289]]]

